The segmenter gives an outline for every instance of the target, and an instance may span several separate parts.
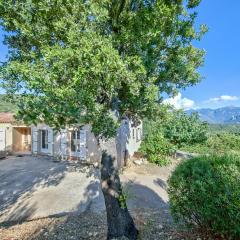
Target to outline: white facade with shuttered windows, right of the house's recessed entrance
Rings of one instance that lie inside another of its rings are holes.
[[[133,127],[127,120],[122,122],[115,140],[112,140],[119,162],[133,156],[140,147],[141,138],[142,124]],[[45,124],[34,126],[32,127],[32,152],[61,159],[81,159],[87,162],[99,162],[101,159],[100,146],[89,125],[62,129],[58,132],[54,132]]]

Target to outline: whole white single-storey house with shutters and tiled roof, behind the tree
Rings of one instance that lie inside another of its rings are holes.
[[[123,120],[113,139],[119,165],[140,147],[142,124],[137,127]],[[15,121],[13,114],[0,113],[0,152],[8,154],[48,155],[59,159],[100,161],[101,150],[90,125],[55,131],[46,124],[26,126]]]

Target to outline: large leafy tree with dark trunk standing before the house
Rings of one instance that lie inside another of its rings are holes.
[[[3,86],[27,123],[91,124],[109,139],[123,118],[153,117],[161,93],[200,80],[192,42],[200,0],[0,0],[9,46]],[[112,112],[117,112],[117,118]],[[108,238],[136,239],[114,157],[103,149]]]

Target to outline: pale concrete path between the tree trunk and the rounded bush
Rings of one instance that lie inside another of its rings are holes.
[[[163,222],[172,222],[169,211],[167,180],[177,162],[168,167],[154,164],[132,165],[121,175],[127,205],[130,210],[151,209],[160,214]],[[151,211],[149,211],[151,212]]]

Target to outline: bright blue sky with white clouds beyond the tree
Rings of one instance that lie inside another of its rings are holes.
[[[240,106],[240,1],[202,0],[198,8],[198,23],[205,23],[209,32],[198,47],[207,52],[204,79],[190,87],[172,102],[185,108],[218,108]],[[7,48],[2,44],[0,29],[0,61]],[[0,93],[1,93],[0,89]]]

